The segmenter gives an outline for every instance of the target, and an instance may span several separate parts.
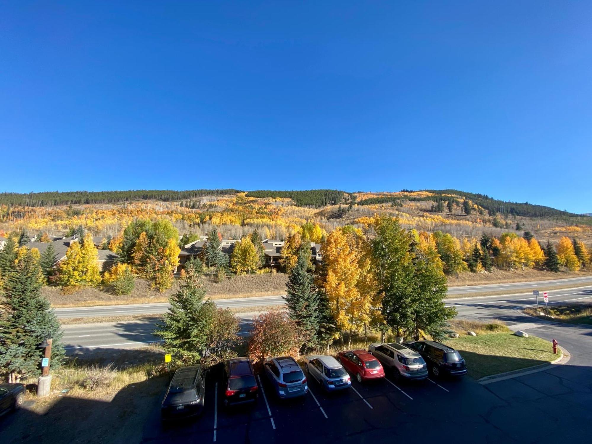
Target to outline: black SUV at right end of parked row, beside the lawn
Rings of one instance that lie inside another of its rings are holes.
[[[452,347],[433,341],[406,341],[404,344],[422,355],[427,368],[435,377],[466,375],[465,360]]]

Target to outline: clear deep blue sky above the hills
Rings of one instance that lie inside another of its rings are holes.
[[[15,1],[0,191],[456,188],[592,211],[592,2]]]

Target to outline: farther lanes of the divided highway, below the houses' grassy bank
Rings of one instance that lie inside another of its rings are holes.
[[[592,284],[592,276],[583,276],[573,279],[556,279],[554,281],[533,281],[520,282],[517,284],[493,284],[493,285],[475,285],[469,287],[449,287],[448,295],[468,293],[485,293],[507,291],[516,293],[517,291],[532,291],[540,289],[544,291],[545,287],[552,285],[583,285],[587,282]],[[284,304],[282,295],[265,296],[258,298],[231,298],[217,299],[214,301],[218,307],[261,307],[263,305]],[[79,307],[79,308],[56,308],[56,315],[59,318],[79,318],[79,317],[98,317],[98,316],[125,316],[134,314],[159,314],[165,313],[169,307],[168,303],[155,304],[130,304],[130,305],[102,305],[98,307]]]

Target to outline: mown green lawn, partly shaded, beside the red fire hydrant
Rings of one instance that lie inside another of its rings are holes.
[[[539,337],[519,337],[511,333],[461,336],[444,341],[461,352],[469,375],[479,379],[554,361],[553,346]]]

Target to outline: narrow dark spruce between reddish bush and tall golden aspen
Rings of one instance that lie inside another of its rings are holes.
[[[296,321],[304,334],[302,352],[306,353],[318,346],[318,300],[319,294],[314,285],[314,276],[308,271],[310,249],[301,246],[298,262],[291,269],[286,284],[286,304],[288,314]]]

